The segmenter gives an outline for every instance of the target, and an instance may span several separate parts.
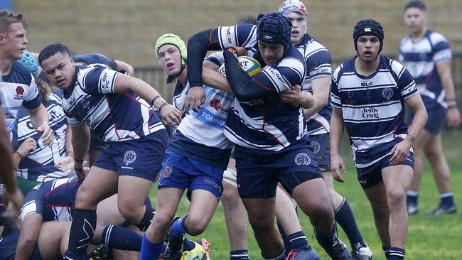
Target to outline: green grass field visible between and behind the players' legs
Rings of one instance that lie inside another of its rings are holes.
[[[346,141],[346,139],[344,139]],[[436,190],[434,180],[431,176],[428,164],[424,166],[424,177],[421,183],[419,197],[419,213],[409,217],[409,234],[406,243],[406,259],[462,259],[462,132],[444,132],[445,155],[451,166],[452,185],[455,193],[456,204],[459,211],[453,215],[425,216],[421,212],[431,210],[439,203],[439,194]],[[350,149],[343,143],[343,159],[348,163],[348,174],[345,176],[345,183],[335,183],[335,190],[345,196],[355,214],[356,222],[362,232],[365,242],[372,249],[374,259],[385,259],[382,253],[380,239],[375,230],[372,219],[372,211],[362,189],[356,179],[356,172],[352,166]],[[153,202],[155,202],[153,193]],[[181,201],[178,215],[183,215],[188,210],[188,200]],[[321,249],[313,236],[313,227],[308,217],[300,217],[303,231],[313,248],[318,251],[321,259],[329,259]],[[340,238],[350,247],[348,239],[339,228]],[[225,218],[221,204],[219,205],[208,229],[200,236],[208,239],[213,250],[211,259],[229,259],[230,244],[227,237]],[[249,227],[249,254],[251,259],[261,259],[259,248]]]

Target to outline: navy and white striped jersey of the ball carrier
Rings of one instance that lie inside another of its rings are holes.
[[[255,26],[219,27],[219,42],[222,48],[239,45],[250,48],[253,56],[262,64],[262,72],[273,83],[279,94],[293,85],[302,85],[306,75],[303,55],[291,45],[278,63],[268,66],[263,63],[258,51]],[[253,44],[253,45],[252,45]],[[258,74],[259,74],[258,73]],[[225,136],[233,143],[269,151],[279,151],[298,141],[306,134],[306,124],[301,106],[281,102],[278,95],[259,102],[235,101],[228,114]]]

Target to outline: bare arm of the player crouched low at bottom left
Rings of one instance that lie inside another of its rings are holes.
[[[33,248],[36,246],[38,234],[42,225],[42,215],[33,213],[28,215],[21,223],[15,260],[28,260],[31,258]]]

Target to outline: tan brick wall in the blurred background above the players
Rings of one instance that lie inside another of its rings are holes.
[[[375,18],[385,28],[385,54],[396,55],[408,32],[403,23],[407,1],[305,0],[308,33],[331,50],[334,59],[354,55],[353,26]],[[309,5],[308,5],[309,3]],[[159,66],[154,42],[163,33],[187,40],[217,25],[233,25],[243,16],[276,11],[281,0],[14,0],[13,9],[29,21],[29,50],[61,42],[75,53],[102,53],[134,65]],[[453,50],[462,50],[462,1],[426,1],[429,27],[443,33]]]

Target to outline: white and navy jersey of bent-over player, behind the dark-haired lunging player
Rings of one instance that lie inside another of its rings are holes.
[[[28,153],[26,157],[21,159],[16,169],[16,175],[21,178],[40,182],[68,175],[55,167],[58,161],[65,158],[65,135],[68,129],[68,121],[66,120],[63,107],[61,107],[61,98],[58,94],[50,93],[48,101],[44,102],[43,105],[48,112],[48,124],[55,132],[52,146],[43,146],[40,140],[42,135],[33,128],[31,118],[27,110],[23,107],[18,109],[18,117],[16,118],[12,141],[15,150],[28,137],[37,141],[36,151]]]

